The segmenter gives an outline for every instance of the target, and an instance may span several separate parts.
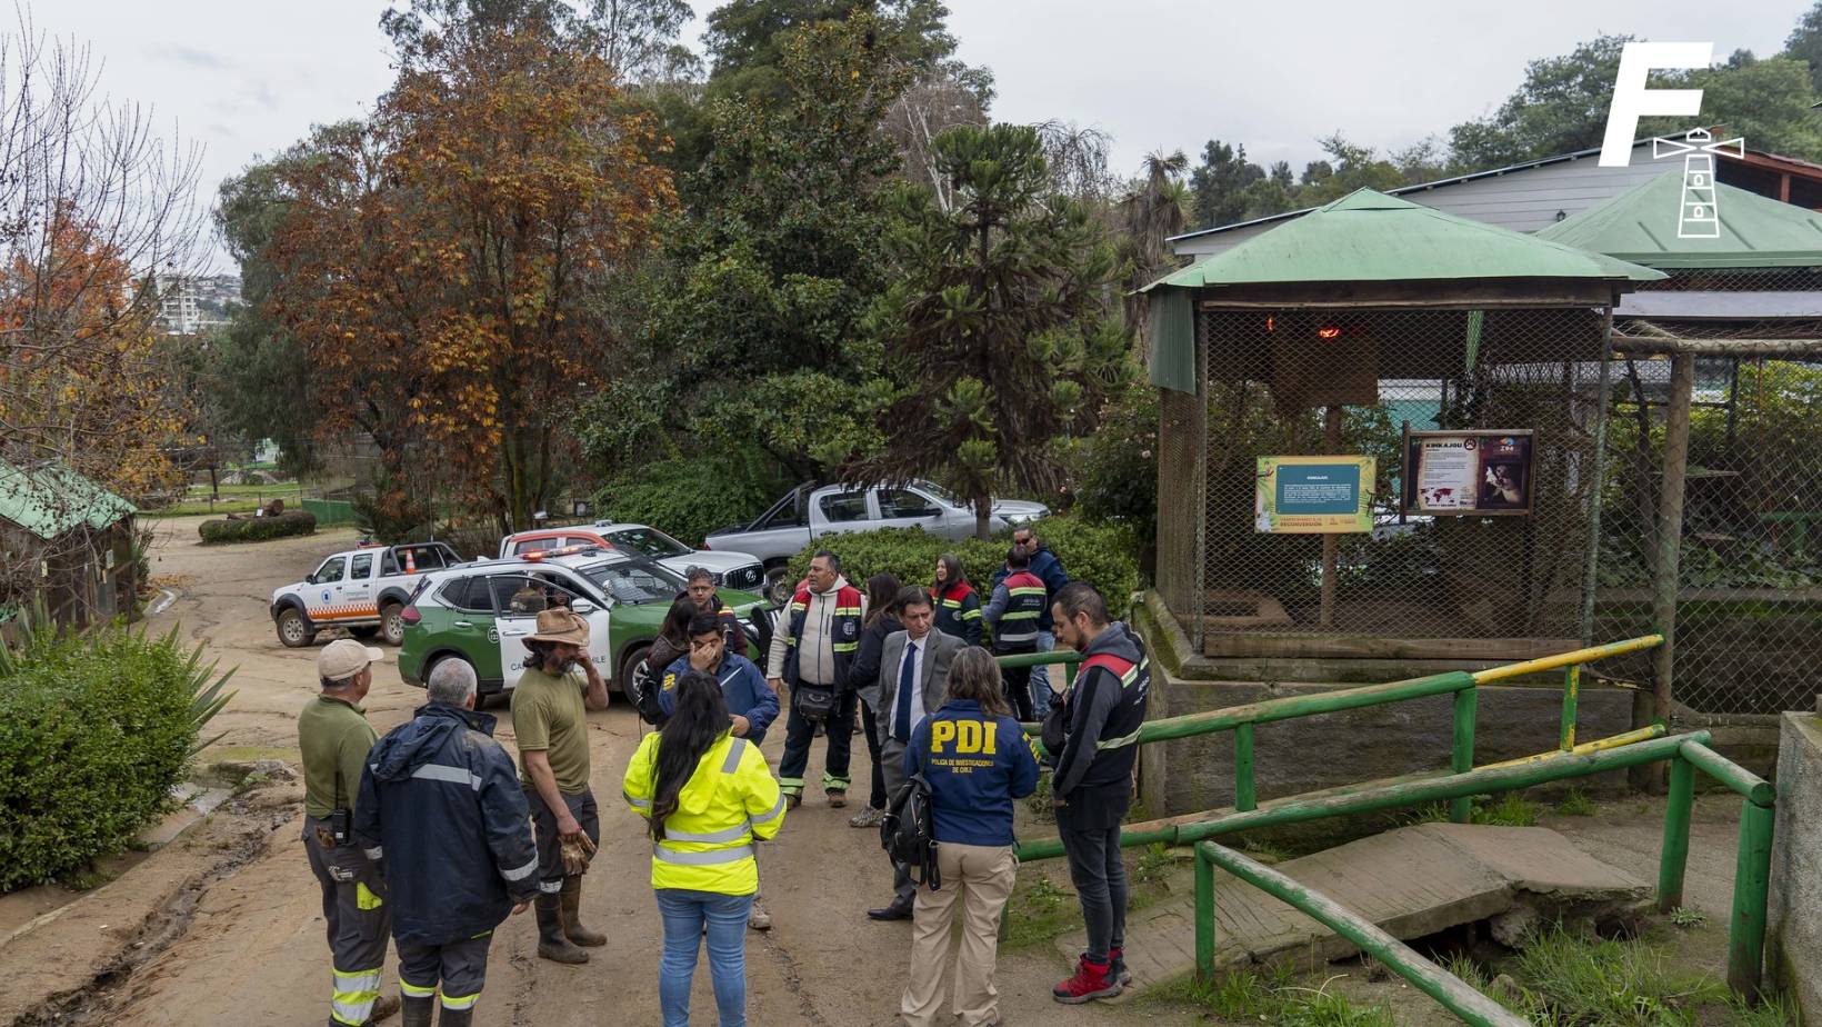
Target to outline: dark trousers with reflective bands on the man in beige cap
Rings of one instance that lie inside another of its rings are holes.
[[[368,1022],[379,998],[392,908],[379,868],[355,845],[335,845],[330,821],[304,817],[304,852],[322,887],[322,921],[330,939],[330,1023]]]

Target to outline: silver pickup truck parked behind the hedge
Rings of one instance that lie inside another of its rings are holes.
[[[1037,520],[1048,513],[1049,507],[1044,503],[993,500],[993,529]],[[785,564],[814,538],[882,527],[922,527],[944,538],[967,538],[975,533],[975,509],[967,500],[933,482],[893,487],[798,485],[752,524],[709,533],[703,549],[752,553],[765,564],[767,595],[774,595],[793,584],[782,580]]]

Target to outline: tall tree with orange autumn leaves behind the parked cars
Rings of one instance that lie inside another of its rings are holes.
[[[397,82],[282,164],[264,252],[317,429],[372,434],[384,503],[446,487],[503,529],[559,480],[614,347],[594,299],[672,202],[612,67],[543,5],[512,11],[390,24]]]

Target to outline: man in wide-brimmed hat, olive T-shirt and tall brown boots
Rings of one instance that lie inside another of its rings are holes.
[[[607,682],[589,659],[589,622],[568,609],[541,611],[525,648],[525,673],[512,690],[512,733],[537,837],[537,954],[587,963],[578,945],[607,945],[607,938],[581,925],[581,872],[565,870],[563,839],[589,835],[590,848],[601,841],[589,790],[587,711],[607,710]]]

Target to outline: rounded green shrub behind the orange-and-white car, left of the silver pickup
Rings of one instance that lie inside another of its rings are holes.
[[[649,524],[685,545],[701,545],[703,536],[734,518],[758,516],[787,487],[763,456],[694,456],[643,463],[609,478],[594,505],[603,518]]]

